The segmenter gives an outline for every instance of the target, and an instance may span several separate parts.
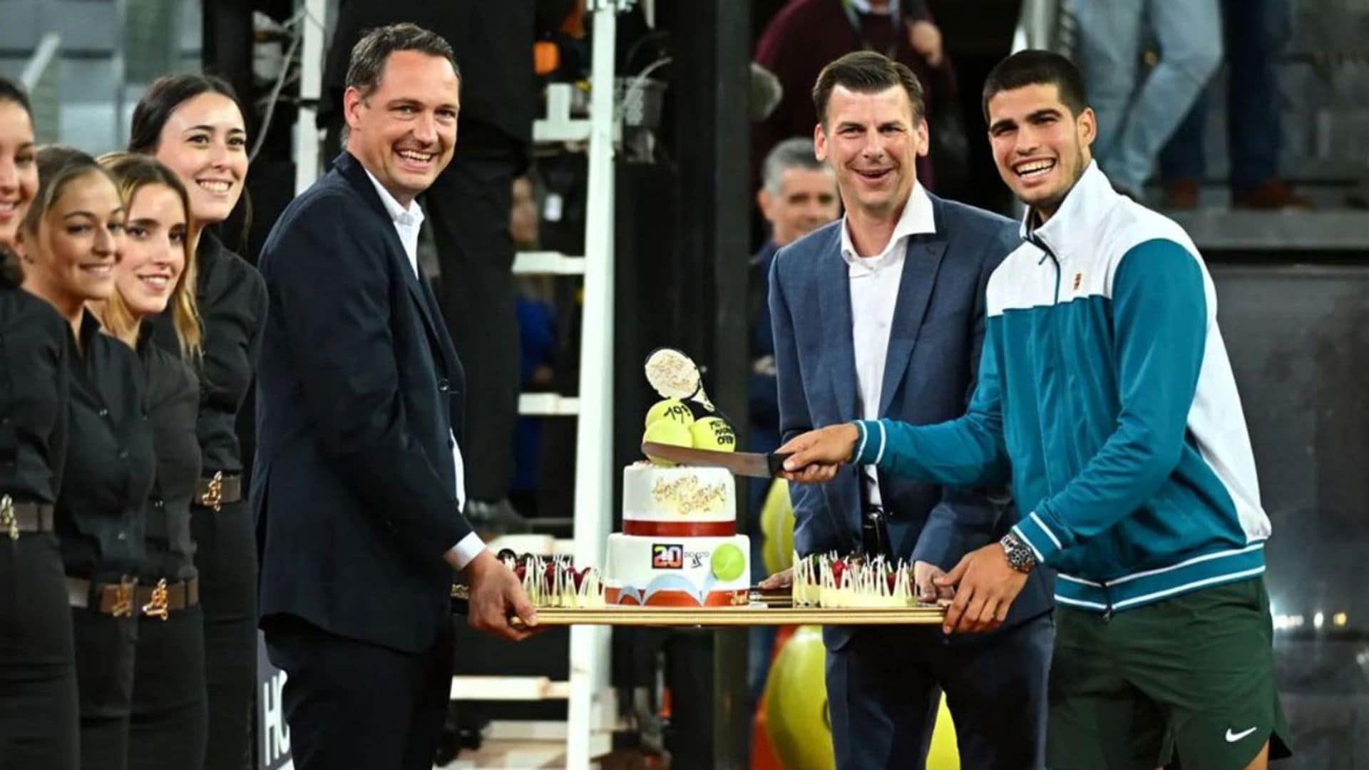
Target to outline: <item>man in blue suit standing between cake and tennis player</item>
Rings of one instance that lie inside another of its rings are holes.
[[[783,438],[857,418],[960,417],[979,367],[984,288],[1016,248],[1017,229],[917,184],[928,136],[908,67],[849,53],[819,75],[813,101],[815,148],[836,171],[846,215],[780,249],[771,271]],[[791,485],[790,495],[801,555],[865,551],[912,562],[924,599],[936,599],[934,577],[1016,519],[1002,490],[850,466],[823,485]],[[942,691],[967,769],[1042,767],[1049,580],[1034,571],[1003,628],[983,637],[826,629],[838,767],[920,767]]]

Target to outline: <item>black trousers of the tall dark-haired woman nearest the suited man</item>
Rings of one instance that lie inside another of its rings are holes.
[[[204,617],[208,770],[252,767],[256,695],[256,536],[245,500],[190,512]]]

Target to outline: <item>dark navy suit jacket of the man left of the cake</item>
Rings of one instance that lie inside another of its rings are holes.
[[[405,652],[450,623],[471,532],[452,434],[465,380],[361,163],[342,153],[271,229],[251,506],[260,614]]]

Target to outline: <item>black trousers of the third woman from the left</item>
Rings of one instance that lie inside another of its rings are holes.
[[[200,607],[172,611],[166,621],[138,618],[134,660],[130,770],[203,767],[208,711]]]

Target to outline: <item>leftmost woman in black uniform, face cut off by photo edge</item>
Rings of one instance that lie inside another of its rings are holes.
[[[0,78],[0,767],[74,770],[77,669],[52,534],[71,332],[19,289],[11,251],[38,189],[36,155],[27,99]]]

